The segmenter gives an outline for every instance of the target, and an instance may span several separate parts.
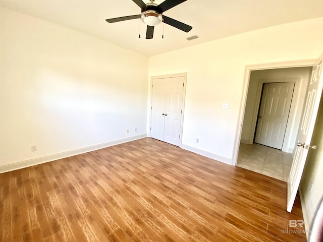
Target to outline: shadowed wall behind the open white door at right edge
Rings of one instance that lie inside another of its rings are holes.
[[[319,104],[311,145],[316,145],[317,149],[310,149],[308,152],[300,184],[302,209],[307,229],[309,229],[318,202],[323,196],[323,96]]]

